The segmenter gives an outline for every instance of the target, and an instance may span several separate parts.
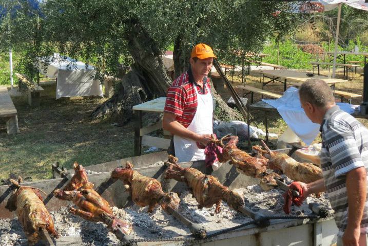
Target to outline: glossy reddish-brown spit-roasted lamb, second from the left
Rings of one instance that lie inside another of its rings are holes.
[[[113,232],[119,228],[124,234],[130,234],[131,225],[113,215],[108,202],[92,189],[93,184],[88,182],[87,174],[82,165],[74,163],[74,170],[75,174],[70,182],[63,190],[54,190],[54,196],[73,202],[78,208],[71,207],[69,211],[72,214],[92,222],[104,222]]]

